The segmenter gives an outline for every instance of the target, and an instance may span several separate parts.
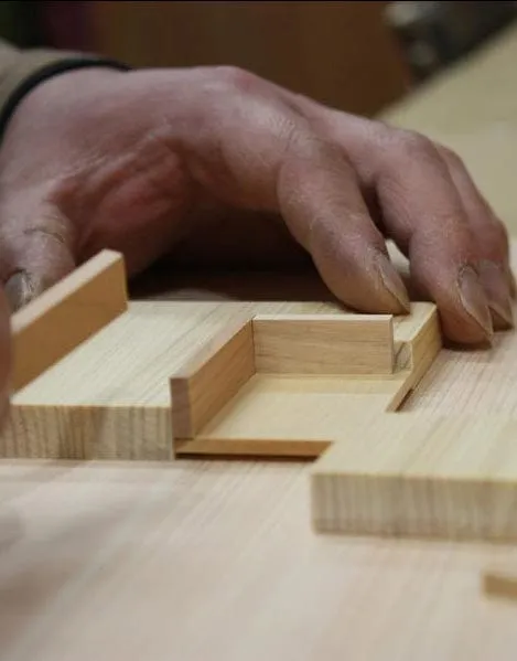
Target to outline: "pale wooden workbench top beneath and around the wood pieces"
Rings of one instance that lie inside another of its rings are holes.
[[[387,117],[517,228],[516,57],[514,30]],[[516,356],[517,333],[443,352],[407,407],[514,415]],[[0,659],[514,661],[481,571],[517,547],[319,537],[308,488],[294,462],[0,463]]]

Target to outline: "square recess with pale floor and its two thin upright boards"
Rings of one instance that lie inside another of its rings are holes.
[[[390,316],[336,313],[240,322],[171,379],[175,455],[320,456],[352,417],[373,405],[397,409],[429,369],[441,348],[435,308],[417,305],[413,321],[396,329]]]

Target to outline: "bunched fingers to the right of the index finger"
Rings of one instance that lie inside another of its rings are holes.
[[[349,156],[381,224],[410,258],[418,296],[437,302],[445,334],[483,342],[511,326],[508,242],[457,157],[409,131],[290,96]]]

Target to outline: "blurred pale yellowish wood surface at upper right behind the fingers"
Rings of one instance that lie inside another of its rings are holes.
[[[510,25],[381,116],[453,149],[511,234],[517,233],[516,35]]]

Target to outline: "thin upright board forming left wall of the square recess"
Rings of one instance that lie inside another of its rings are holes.
[[[193,438],[254,374],[252,327],[239,320],[172,376],[173,437]]]

